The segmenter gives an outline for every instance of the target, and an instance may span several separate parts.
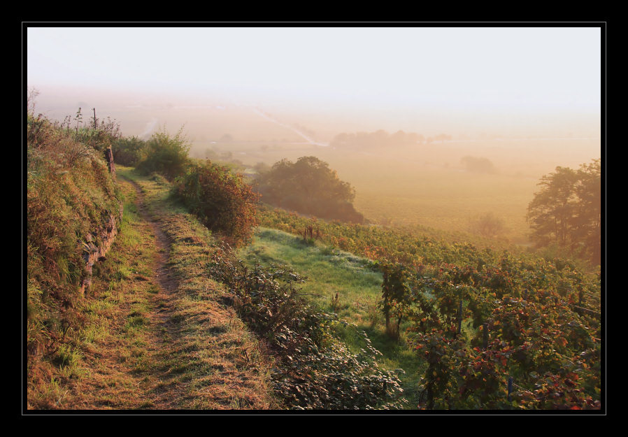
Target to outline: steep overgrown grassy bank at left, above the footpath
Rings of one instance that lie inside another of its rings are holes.
[[[62,129],[45,117],[27,118],[26,329],[28,375],[48,378],[73,352],[77,309],[89,273],[85,255],[104,244],[111,219],[120,220],[120,190],[104,160],[107,129]],[[87,290],[89,293],[89,290]]]

